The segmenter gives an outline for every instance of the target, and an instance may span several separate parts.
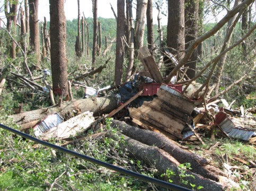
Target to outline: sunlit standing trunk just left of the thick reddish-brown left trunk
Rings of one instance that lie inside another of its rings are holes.
[[[38,20],[38,2],[39,0],[29,0],[29,28],[30,28],[30,46],[36,53],[37,66],[40,66],[40,34]]]

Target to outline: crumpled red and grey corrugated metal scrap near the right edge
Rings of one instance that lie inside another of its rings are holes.
[[[227,133],[229,137],[250,141],[256,132],[247,128],[243,124],[236,123],[233,118],[229,118],[225,112],[216,114],[216,123]]]

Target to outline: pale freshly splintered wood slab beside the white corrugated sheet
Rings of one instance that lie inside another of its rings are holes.
[[[89,129],[93,121],[93,113],[86,111],[60,123],[56,127],[52,127],[40,137],[42,140],[49,140],[51,138],[67,139]]]

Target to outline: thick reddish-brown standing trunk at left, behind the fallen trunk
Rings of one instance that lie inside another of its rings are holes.
[[[50,42],[52,89],[55,94],[68,95],[67,59],[66,59],[66,17],[65,0],[50,1]]]

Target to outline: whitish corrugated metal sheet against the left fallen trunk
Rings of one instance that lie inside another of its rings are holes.
[[[42,135],[43,132],[51,129],[52,127],[56,127],[63,121],[64,119],[58,113],[51,114],[34,127],[34,135]]]

